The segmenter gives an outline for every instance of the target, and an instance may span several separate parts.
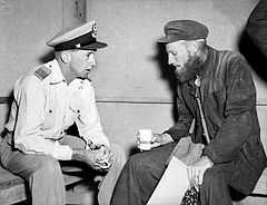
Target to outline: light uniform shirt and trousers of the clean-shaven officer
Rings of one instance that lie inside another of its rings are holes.
[[[100,124],[92,84],[75,79],[68,85],[58,61],[52,60],[19,78],[13,95],[6,125],[13,138],[7,137],[2,143],[1,162],[29,182],[32,204],[65,204],[63,177],[57,159],[71,159],[72,148],[85,148],[88,143],[110,147]],[[65,131],[73,123],[80,138],[68,145]],[[11,145],[16,150],[11,150]],[[125,163],[122,152],[118,152],[116,147],[113,164],[101,184],[100,205],[109,204]]]

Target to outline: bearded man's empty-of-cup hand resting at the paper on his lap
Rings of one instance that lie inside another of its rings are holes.
[[[204,173],[207,170],[207,168],[210,168],[212,166],[214,163],[207,156],[202,156],[196,163],[188,166],[188,179],[191,186],[197,187],[198,185],[201,185]]]

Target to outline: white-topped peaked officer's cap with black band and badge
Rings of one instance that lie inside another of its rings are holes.
[[[107,43],[97,41],[97,23],[89,21],[76,27],[66,28],[47,42],[56,51],[80,49],[96,50],[107,47]]]

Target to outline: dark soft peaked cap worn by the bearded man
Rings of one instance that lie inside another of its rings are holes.
[[[206,39],[208,28],[200,22],[192,20],[169,21],[165,28],[166,36],[158,39],[158,42],[174,42],[178,40]]]

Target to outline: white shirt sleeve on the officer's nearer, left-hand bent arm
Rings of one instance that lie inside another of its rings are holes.
[[[18,107],[14,146],[26,154],[48,154],[58,159],[70,159],[72,150],[43,137],[46,96],[39,79],[27,77],[14,87]]]

